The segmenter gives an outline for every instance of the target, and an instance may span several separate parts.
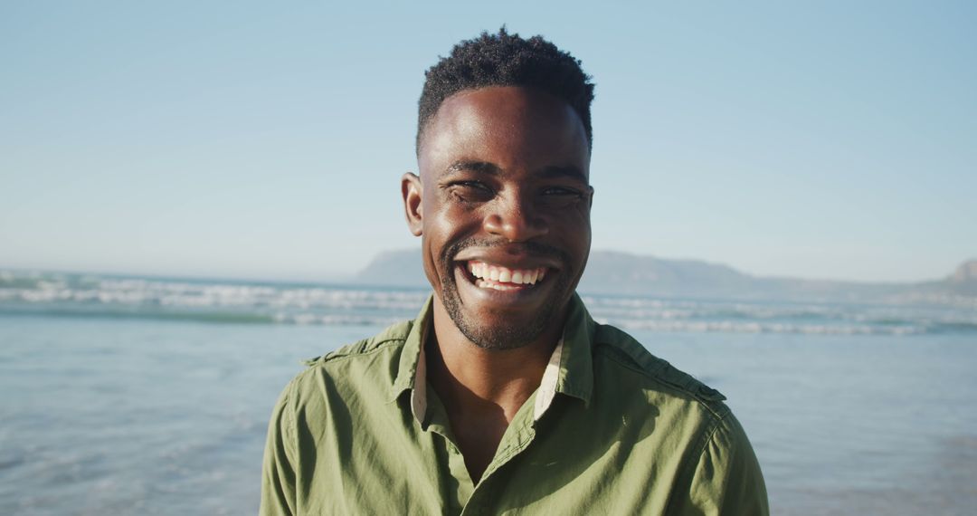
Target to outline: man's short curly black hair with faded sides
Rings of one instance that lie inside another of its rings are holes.
[[[594,84],[580,68],[579,60],[542,36],[523,39],[519,34],[509,34],[505,26],[497,34],[482,32],[475,39],[455,45],[450,56],[441,58],[424,76],[424,89],[417,103],[418,153],[424,128],[445,99],[463,90],[488,86],[537,88],[563,100],[580,117],[587,146],[593,147],[590,103],[594,100]]]

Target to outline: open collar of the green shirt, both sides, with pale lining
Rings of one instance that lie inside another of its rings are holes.
[[[418,423],[423,424],[427,413],[427,366],[424,360],[424,343],[427,332],[433,327],[432,306],[434,296],[428,298],[417,319],[411,324],[401,352],[397,378],[394,380],[391,400],[397,400],[410,391],[410,411]],[[549,409],[556,394],[572,396],[590,404],[594,386],[591,358],[591,340],[595,324],[583,301],[573,294],[563,337],[557,343],[549,363],[543,372],[536,391],[533,419],[538,420]]]

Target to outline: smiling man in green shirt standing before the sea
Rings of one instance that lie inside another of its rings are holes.
[[[434,295],[311,362],[269,430],[263,514],[766,514],[722,395],[594,323],[579,62],[505,30],[427,72],[402,181]]]

